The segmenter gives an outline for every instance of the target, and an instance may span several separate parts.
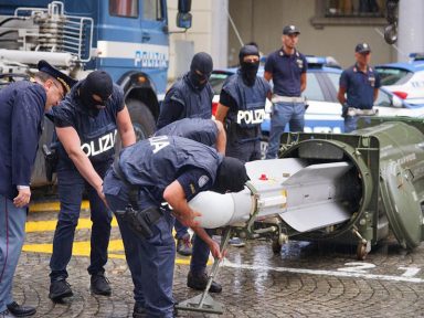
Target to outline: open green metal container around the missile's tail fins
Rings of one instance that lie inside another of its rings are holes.
[[[361,259],[371,245],[389,235],[389,227],[403,247],[420,245],[424,240],[424,124],[405,121],[374,120],[351,134],[282,136],[280,158],[303,158],[310,165],[348,161],[353,167],[346,176],[351,191],[344,200],[351,219],[333,229],[298,233],[298,237],[342,237],[350,242],[352,236],[359,237]],[[289,234],[296,237],[297,233]]]

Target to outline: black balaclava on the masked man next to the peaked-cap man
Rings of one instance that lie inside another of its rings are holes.
[[[114,84],[112,77],[104,71],[94,71],[83,80],[80,86],[80,97],[85,107],[87,107],[88,115],[96,117],[100,109],[97,106],[105,106],[106,100],[112,95]],[[93,98],[93,94],[102,97],[103,102],[97,102]]]

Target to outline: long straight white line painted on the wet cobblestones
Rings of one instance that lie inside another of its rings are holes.
[[[229,259],[224,259],[222,266],[237,269],[251,269],[251,271],[274,271],[286,272],[295,274],[308,274],[308,275],[324,275],[348,278],[367,278],[377,280],[392,280],[392,282],[406,282],[406,283],[424,283],[423,278],[405,277],[405,276],[391,276],[380,274],[368,274],[363,272],[342,272],[342,271],[324,271],[324,269],[306,269],[306,268],[290,268],[290,267],[271,267],[271,266],[257,266],[248,264],[235,264]]]

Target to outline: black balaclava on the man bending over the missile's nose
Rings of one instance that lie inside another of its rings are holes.
[[[224,157],[216,171],[216,180],[212,191],[219,193],[239,192],[244,189],[244,183],[250,180],[243,161]]]

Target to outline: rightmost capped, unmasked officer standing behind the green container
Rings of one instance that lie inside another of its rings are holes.
[[[381,87],[379,74],[370,66],[370,45],[359,43],[354,47],[354,59],[356,64],[341,73],[337,95],[342,105],[344,132],[357,129],[359,117],[375,115],[372,106]]]

